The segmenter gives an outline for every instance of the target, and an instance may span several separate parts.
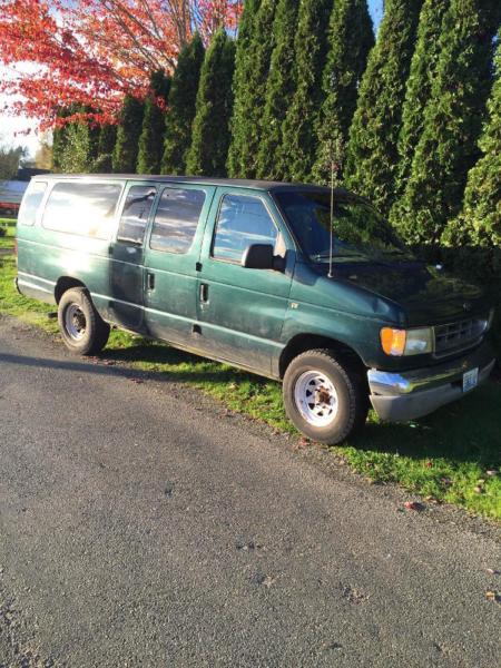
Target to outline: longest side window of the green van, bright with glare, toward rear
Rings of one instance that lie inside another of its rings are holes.
[[[120,191],[118,184],[56,184],[43,212],[43,227],[108,239]]]

